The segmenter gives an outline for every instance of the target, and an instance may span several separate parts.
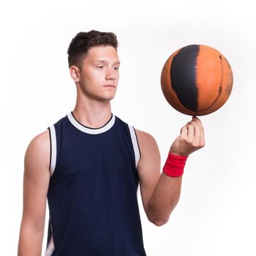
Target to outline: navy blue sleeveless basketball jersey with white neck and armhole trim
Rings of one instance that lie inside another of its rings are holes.
[[[85,127],[72,112],[50,133],[45,256],[145,256],[135,129],[112,114]]]

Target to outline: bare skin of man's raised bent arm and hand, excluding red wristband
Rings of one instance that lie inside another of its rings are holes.
[[[146,132],[136,129],[140,146],[138,175],[143,208],[148,220],[155,225],[164,225],[181,194],[182,176],[167,176],[160,173],[160,154],[156,140]],[[200,120],[193,117],[184,127],[181,134],[170,146],[170,153],[188,156],[205,145],[203,126]]]

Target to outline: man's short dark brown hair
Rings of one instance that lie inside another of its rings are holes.
[[[70,42],[67,50],[69,67],[74,65],[81,68],[83,59],[89,48],[99,45],[110,45],[117,49],[118,41],[116,34],[112,32],[100,32],[91,30],[89,32],[79,32]]]

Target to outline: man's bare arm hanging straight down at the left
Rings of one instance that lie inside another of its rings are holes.
[[[50,137],[46,130],[26,150],[23,176],[23,216],[18,256],[40,256],[45,227],[45,210],[50,181]]]

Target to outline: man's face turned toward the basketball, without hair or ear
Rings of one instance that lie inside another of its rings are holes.
[[[89,49],[80,70],[80,89],[86,97],[99,101],[113,99],[119,79],[120,62],[112,46],[95,46]]]

